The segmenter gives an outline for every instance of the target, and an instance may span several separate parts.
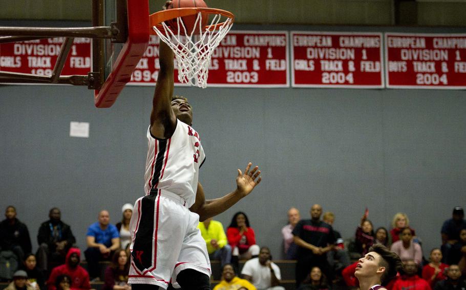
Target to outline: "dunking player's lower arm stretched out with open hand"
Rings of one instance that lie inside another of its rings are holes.
[[[204,189],[202,188],[201,183],[198,182],[196,202],[192,207],[189,208],[189,210],[199,214],[199,221],[202,222],[205,219],[224,212],[236,204],[239,200],[249,195],[262,180],[259,166],[253,167],[252,170],[251,166],[252,163],[249,162],[246,166],[246,169],[244,170],[244,173],[238,169],[238,176],[236,177],[236,189],[218,199],[205,200]]]

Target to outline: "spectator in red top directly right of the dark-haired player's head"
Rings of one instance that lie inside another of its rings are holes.
[[[414,260],[406,260],[404,274],[395,277],[388,285],[390,290],[431,290],[429,283],[417,276],[417,264]]]

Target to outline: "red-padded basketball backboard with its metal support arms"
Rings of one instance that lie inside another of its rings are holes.
[[[96,107],[110,107],[143,56],[149,42],[148,0],[92,0],[92,26],[86,28],[0,27],[0,43],[63,37],[50,75],[0,70],[0,83],[72,84],[94,89]],[[73,39],[92,38],[88,75],[60,76]],[[1,68],[0,68],[1,69]]]

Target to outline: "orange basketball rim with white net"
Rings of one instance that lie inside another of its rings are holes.
[[[186,27],[183,17],[194,15],[194,25]],[[203,25],[209,15],[213,15],[212,20]],[[201,88],[207,87],[211,55],[230,31],[234,19],[228,11],[200,7],[167,9],[150,15],[151,27],[175,53],[178,80]],[[167,20],[172,20],[171,26],[165,23]]]

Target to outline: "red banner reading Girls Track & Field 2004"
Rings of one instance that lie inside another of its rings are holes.
[[[291,32],[291,86],[383,88],[382,34]]]

